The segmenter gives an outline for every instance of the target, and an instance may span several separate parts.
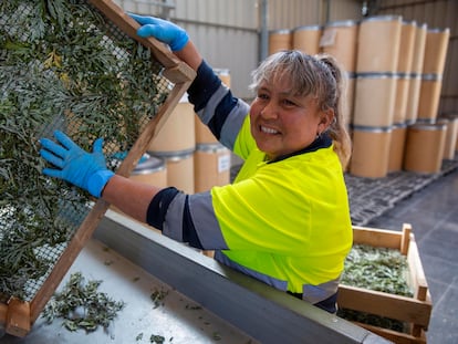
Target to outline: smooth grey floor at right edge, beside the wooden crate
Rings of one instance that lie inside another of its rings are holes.
[[[458,343],[458,169],[372,219],[367,227],[413,226],[433,300],[428,344]]]

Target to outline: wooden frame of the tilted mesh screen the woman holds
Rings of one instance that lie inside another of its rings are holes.
[[[162,128],[168,115],[173,112],[191,84],[196,76],[196,72],[176,58],[163,43],[153,38],[139,38],[136,34],[139,24],[113,1],[87,0],[87,2],[104,13],[105,17],[117,25],[121,31],[138,41],[145,48],[148,48],[152,51],[153,56],[164,66],[164,77],[174,83],[174,87],[160,106],[157,115],[146,125],[145,129],[138,136],[128,155],[116,171],[117,175],[127,177],[142,155],[146,152],[149,142]],[[92,237],[95,228],[108,209],[108,206],[110,205],[103,199],[98,199],[95,202],[93,209],[81,223],[66,249],[55,263],[50,275],[30,302],[12,298],[8,304],[0,304],[0,329],[3,326],[6,333],[19,337],[23,337],[30,332],[33,323],[43,311],[45,304],[55,292],[70,267],[80,254],[87,240]]]

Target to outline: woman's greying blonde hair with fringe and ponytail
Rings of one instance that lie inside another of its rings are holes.
[[[352,144],[344,117],[346,98],[346,73],[337,61],[327,54],[309,55],[288,50],[268,56],[252,73],[251,90],[257,91],[262,82],[288,76],[292,92],[302,96],[313,95],[322,111],[333,110],[334,121],[326,132],[334,142],[343,168],[350,160]]]

